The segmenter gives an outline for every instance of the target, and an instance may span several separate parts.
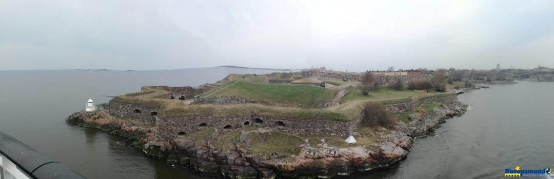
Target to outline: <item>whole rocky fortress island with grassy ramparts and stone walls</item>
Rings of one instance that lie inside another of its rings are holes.
[[[366,74],[373,88],[364,95]],[[402,160],[416,137],[464,114],[451,89],[414,87],[430,78],[417,70],[231,74],[198,87],[144,86],[66,122],[128,137],[147,156],[199,175],[330,178]]]

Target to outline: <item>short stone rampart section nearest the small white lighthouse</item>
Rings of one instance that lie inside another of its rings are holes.
[[[110,101],[109,111],[111,116],[131,119],[140,124],[150,124],[160,111],[160,106],[146,106],[136,104],[116,103]]]

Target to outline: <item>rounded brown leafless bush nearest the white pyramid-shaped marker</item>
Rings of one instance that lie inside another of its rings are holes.
[[[364,125],[389,127],[394,124],[392,112],[375,101],[366,104],[363,114],[362,124]]]

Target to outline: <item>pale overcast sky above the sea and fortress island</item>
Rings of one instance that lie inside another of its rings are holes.
[[[0,70],[554,67],[554,1],[1,0]]]

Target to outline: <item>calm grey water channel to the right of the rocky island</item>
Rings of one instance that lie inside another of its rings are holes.
[[[554,168],[554,83],[519,81],[459,95],[471,106],[437,136],[416,140],[389,170],[355,178],[504,178],[504,169]]]

